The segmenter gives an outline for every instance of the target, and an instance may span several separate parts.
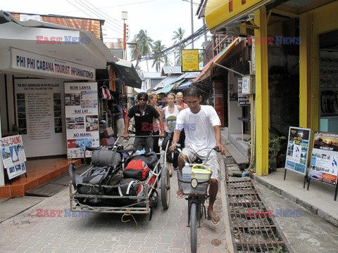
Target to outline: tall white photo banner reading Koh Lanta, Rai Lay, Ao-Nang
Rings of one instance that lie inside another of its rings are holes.
[[[96,82],[65,83],[65,129],[68,158],[84,157],[85,147],[99,147]],[[91,153],[86,153],[89,157]]]

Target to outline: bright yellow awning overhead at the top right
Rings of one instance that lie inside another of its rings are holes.
[[[272,0],[213,0],[206,3],[206,25],[210,32],[217,32],[223,27],[234,27],[249,20],[248,16]]]

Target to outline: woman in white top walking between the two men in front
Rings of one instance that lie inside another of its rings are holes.
[[[164,124],[164,139],[166,136],[170,135],[170,143],[173,140],[173,133],[175,131],[176,126],[176,119],[177,115],[182,110],[182,107],[180,105],[175,105],[175,93],[169,93],[167,96],[167,103],[168,106],[165,106],[165,108],[161,111],[161,117],[165,119]],[[169,169],[169,176],[173,176],[173,154],[167,153],[167,167]]]

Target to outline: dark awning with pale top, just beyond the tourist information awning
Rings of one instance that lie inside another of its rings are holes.
[[[130,61],[119,59],[117,62],[111,63],[111,65],[115,70],[118,70],[116,75],[122,79],[126,86],[141,89],[142,80]]]

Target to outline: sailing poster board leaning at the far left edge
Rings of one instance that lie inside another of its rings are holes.
[[[25,149],[20,135],[8,136],[0,139],[1,157],[4,168],[7,169],[8,179],[26,173]]]

